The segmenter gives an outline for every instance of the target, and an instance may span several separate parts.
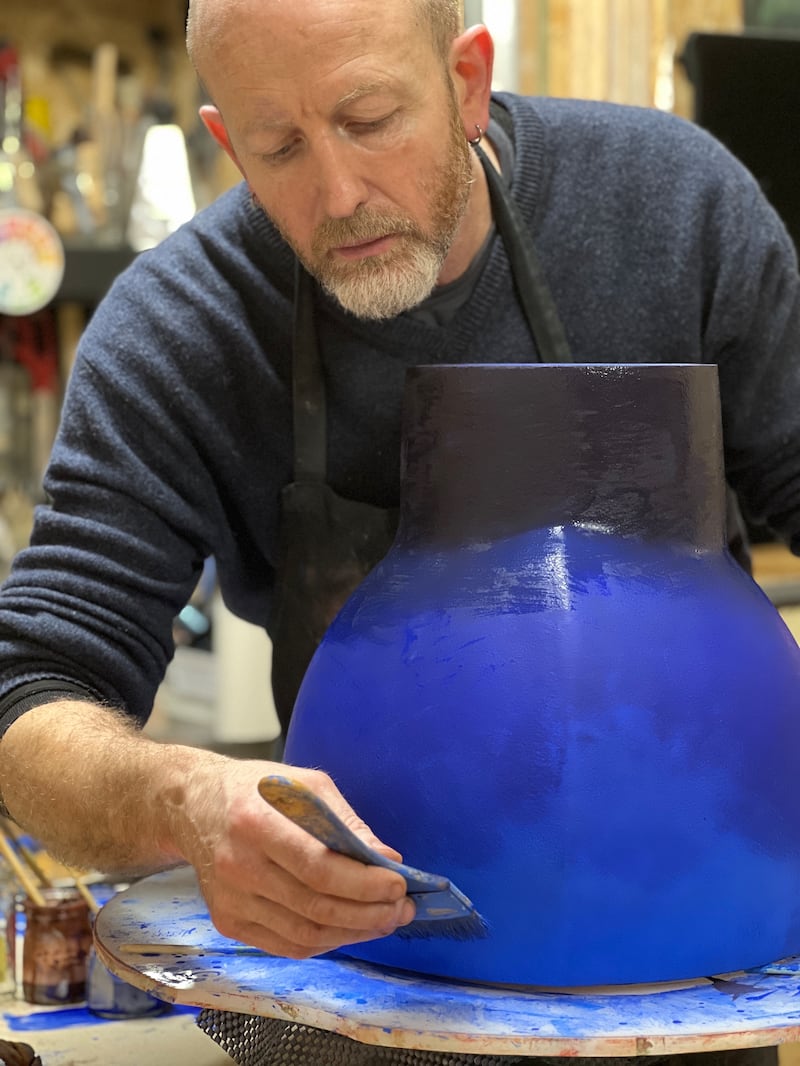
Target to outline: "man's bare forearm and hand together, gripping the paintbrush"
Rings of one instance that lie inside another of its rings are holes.
[[[121,715],[62,701],[28,711],[0,742],[12,814],[70,865],[139,875],[189,862],[225,936],[305,958],[394,932],[414,917],[405,882],[330,851],[265,803],[279,763],[160,744]],[[319,771],[292,768],[393,858]]]

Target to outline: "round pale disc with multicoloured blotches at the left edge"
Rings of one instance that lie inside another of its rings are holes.
[[[53,298],[64,277],[64,246],[41,214],[0,211],[0,313],[33,314]]]

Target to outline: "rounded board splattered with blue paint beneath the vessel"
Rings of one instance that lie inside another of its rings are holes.
[[[800,1040],[795,960],[672,986],[570,992],[438,981],[338,954],[292,962],[222,937],[187,869],[111,900],[96,939],[111,970],[163,1000],[286,1018],[366,1044],[611,1056]]]

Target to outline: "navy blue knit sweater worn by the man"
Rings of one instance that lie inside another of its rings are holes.
[[[756,182],[657,112],[502,96],[513,190],[576,361],[717,362],[729,481],[800,552],[800,284]],[[0,713],[63,683],[143,721],[172,621],[214,555],[266,625],[291,480],[292,256],[239,187],[114,284],[81,342],[32,545],[0,596]],[[502,243],[447,327],[317,300],[329,481],[399,495],[400,403],[420,362],[534,361]],[[29,692],[20,702],[19,695]]]

